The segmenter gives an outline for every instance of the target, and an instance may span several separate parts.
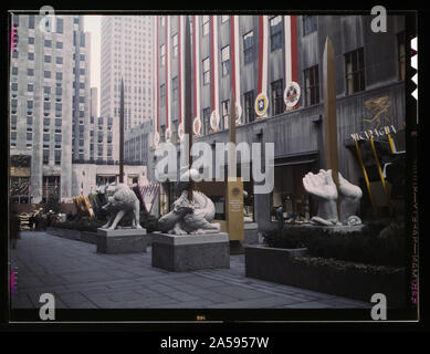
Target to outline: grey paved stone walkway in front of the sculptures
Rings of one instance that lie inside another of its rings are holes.
[[[45,232],[22,231],[12,251],[18,289],[12,308],[39,308],[52,293],[59,309],[370,308],[369,303],[244,275],[244,256],[230,269],[168,272],[146,253],[104,254],[96,246]]]

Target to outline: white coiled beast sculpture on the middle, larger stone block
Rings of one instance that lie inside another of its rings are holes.
[[[188,183],[198,174],[191,169],[181,176],[178,185],[180,197],[174,202],[174,208],[158,220],[158,229],[170,235],[213,233],[221,229],[220,223],[211,223],[216,209],[212,200],[202,192],[193,190],[192,200],[188,199]]]

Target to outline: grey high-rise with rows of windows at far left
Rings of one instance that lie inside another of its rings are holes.
[[[11,170],[11,197],[21,202],[71,198],[72,160],[90,152],[81,143],[90,136],[90,34],[81,15],[55,15],[48,30],[41,21],[12,14],[11,22],[10,155],[27,166]]]

